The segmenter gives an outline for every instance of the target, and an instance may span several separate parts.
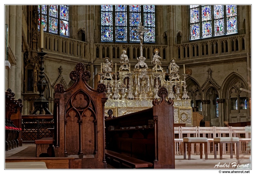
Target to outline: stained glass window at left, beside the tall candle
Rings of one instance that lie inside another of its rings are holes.
[[[37,10],[38,30],[40,30],[41,19],[41,24],[44,26],[44,31],[69,37],[68,5],[38,5]]]

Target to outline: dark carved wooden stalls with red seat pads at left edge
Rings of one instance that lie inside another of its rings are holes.
[[[15,99],[11,89],[5,92],[5,150],[22,146],[21,112],[22,100]]]

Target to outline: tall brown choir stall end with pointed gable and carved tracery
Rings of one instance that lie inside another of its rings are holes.
[[[69,76],[75,81],[72,87],[64,90],[62,84],[55,86],[55,157],[74,157],[80,160],[82,169],[106,169],[103,117],[106,87],[100,83],[97,90],[91,88],[86,82],[91,73],[82,63]]]

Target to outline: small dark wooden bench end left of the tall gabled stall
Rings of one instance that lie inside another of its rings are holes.
[[[55,157],[53,138],[36,139],[36,157]]]

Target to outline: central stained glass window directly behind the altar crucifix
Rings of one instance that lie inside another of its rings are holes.
[[[101,41],[139,42],[141,22],[144,42],[155,42],[155,5],[101,5]]]

